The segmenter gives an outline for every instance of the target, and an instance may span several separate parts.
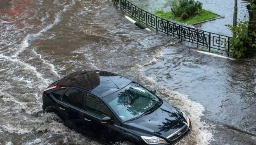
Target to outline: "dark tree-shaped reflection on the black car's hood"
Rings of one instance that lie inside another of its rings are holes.
[[[179,129],[181,127],[183,127],[185,124],[183,124],[182,120],[184,120],[183,117],[181,117],[180,115],[178,115],[177,113],[174,112],[170,112],[168,110],[162,109],[164,112],[167,112],[169,114],[169,117],[175,117],[174,120],[170,120],[168,118],[165,118],[166,122],[162,122],[163,125],[158,125],[159,129],[161,131],[167,132],[170,129]]]

